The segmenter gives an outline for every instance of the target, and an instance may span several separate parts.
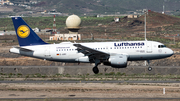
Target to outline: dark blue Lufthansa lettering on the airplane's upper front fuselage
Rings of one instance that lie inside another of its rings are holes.
[[[137,43],[128,43],[128,42],[114,43],[114,46],[144,46],[144,42],[137,42]]]

